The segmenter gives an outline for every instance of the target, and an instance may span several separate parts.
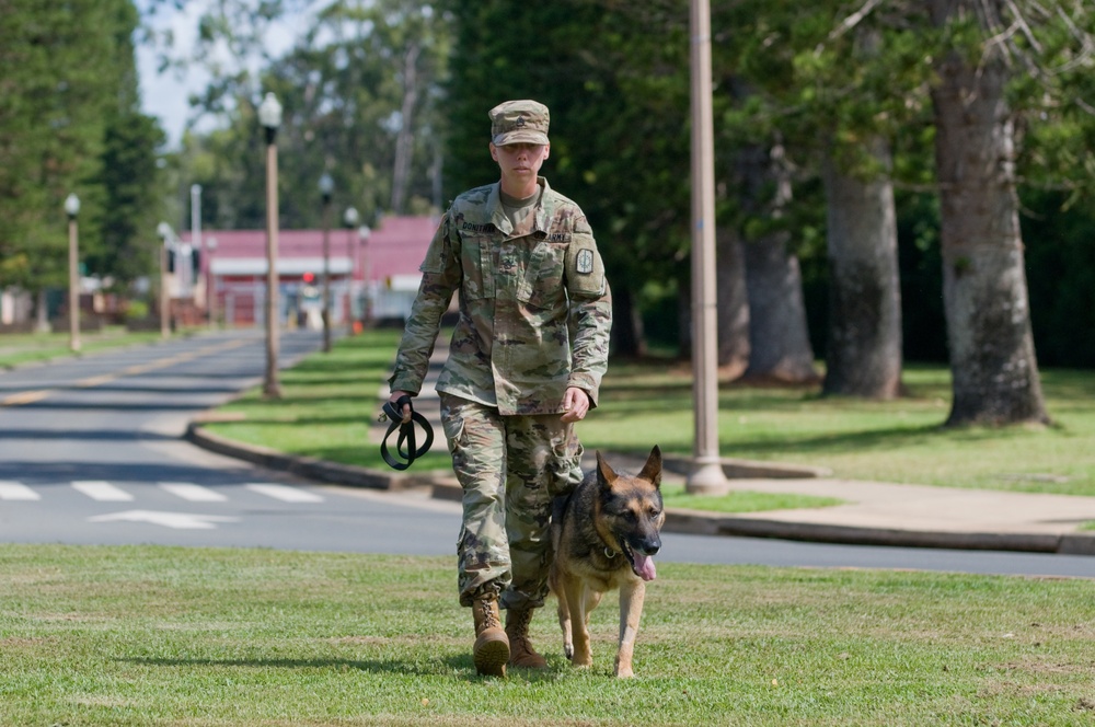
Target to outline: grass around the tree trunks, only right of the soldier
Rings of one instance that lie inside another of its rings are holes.
[[[1095,495],[1095,377],[1090,371],[1042,371],[1054,420],[1049,427],[943,428],[949,371],[910,366],[904,383],[908,394],[894,402],[822,397],[817,389],[724,384],[721,453],[823,466],[853,480]],[[664,449],[688,452],[691,396],[684,369],[610,365],[603,412],[585,425],[583,440],[629,449],[641,432],[656,430],[662,432]]]

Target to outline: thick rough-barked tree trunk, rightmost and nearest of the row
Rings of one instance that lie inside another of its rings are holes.
[[[943,24],[968,0],[934,0]],[[975,59],[973,64],[978,64]],[[941,192],[943,302],[954,379],[948,426],[1046,423],[1015,193],[1014,125],[1000,47],[955,51],[932,90]]]

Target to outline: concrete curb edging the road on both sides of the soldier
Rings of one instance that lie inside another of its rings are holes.
[[[201,426],[203,420],[191,422],[185,438],[192,443],[218,454],[258,464],[272,470],[349,487],[367,487],[388,492],[426,492],[435,499],[460,501],[461,489],[456,477],[446,471],[418,474],[385,472],[368,468],[328,462],[311,457],[286,454],[277,450],[246,445],[219,437]],[[676,458],[675,458],[676,459]],[[683,458],[679,458],[683,461]],[[742,460],[731,460],[737,464]],[[675,462],[675,465],[677,462]],[[772,469],[768,463],[758,463]],[[676,466],[673,468],[676,470]],[[781,472],[784,477],[823,476],[819,469],[792,468]],[[803,474],[814,471],[815,474]],[[749,476],[760,476],[749,470]],[[696,535],[738,538],[771,538],[776,540],[834,543],[846,545],[885,545],[892,547],[932,547],[967,551],[1016,551],[1026,553],[1060,553],[1095,555],[1095,533],[1064,535],[1030,533],[964,533],[947,531],[914,531],[887,528],[855,528],[823,523],[802,523],[765,518],[742,518],[700,510],[670,509],[666,511],[666,532]]]

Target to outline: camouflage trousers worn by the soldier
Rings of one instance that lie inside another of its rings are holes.
[[[505,609],[543,605],[555,495],[581,481],[581,446],[560,414],[502,416],[441,393],[441,426],[463,489],[460,603],[497,593]]]

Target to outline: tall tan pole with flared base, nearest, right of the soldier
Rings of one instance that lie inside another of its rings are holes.
[[[685,489],[727,489],[718,454],[717,302],[715,296],[715,162],[711,104],[711,8],[692,0],[692,376],[695,443]]]

